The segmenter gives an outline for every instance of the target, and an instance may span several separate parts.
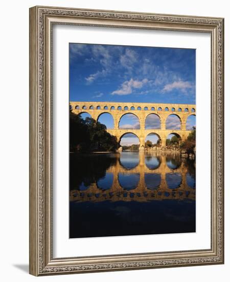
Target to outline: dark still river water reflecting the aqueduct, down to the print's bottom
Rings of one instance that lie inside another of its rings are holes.
[[[70,154],[70,238],[195,232],[195,161]]]

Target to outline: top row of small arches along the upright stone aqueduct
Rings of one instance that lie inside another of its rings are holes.
[[[73,108],[72,106],[70,106],[71,109]],[[131,106],[131,107],[128,107],[128,106],[118,106],[118,107],[115,107],[115,106],[80,106],[80,105],[77,105],[77,106],[74,106],[74,109],[76,110],[106,110],[106,111],[112,111],[112,110],[119,110],[119,111],[171,111],[171,112],[195,112],[195,108],[192,108],[191,110],[189,110],[189,108],[182,108],[182,107],[179,107],[179,108],[176,108],[176,107],[134,107],[134,106]]]

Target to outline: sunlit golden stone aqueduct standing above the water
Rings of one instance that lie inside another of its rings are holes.
[[[140,148],[145,146],[145,138],[150,133],[158,135],[162,146],[166,145],[166,138],[174,133],[185,140],[190,130],[186,130],[187,118],[196,115],[196,105],[187,104],[155,104],[155,103],[111,103],[111,102],[70,102],[70,107],[76,114],[89,113],[92,118],[98,120],[101,114],[110,113],[114,120],[114,128],[107,131],[121,140],[126,133],[134,133],[140,140]],[[119,122],[123,115],[132,113],[140,121],[140,129],[119,128]],[[160,119],[160,129],[145,129],[145,120],[149,114],[156,114]],[[170,114],[175,114],[180,119],[180,130],[166,129],[166,120]]]

